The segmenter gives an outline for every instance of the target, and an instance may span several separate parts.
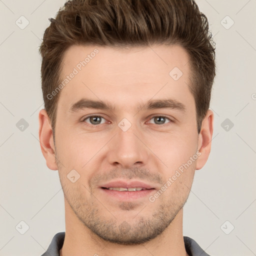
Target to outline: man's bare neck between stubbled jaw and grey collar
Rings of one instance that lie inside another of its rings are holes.
[[[107,256],[107,255],[169,255],[189,256],[185,251],[182,231],[183,209],[177,213],[169,226],[157,237],[143,244],[121,245],[103,240],[92,233],[76,217],[65,202],[65,239],[60,256]]]

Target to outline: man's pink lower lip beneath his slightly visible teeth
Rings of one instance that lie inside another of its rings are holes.
[[[106,188],[100,188],[103,193],[105,193],[108,196],[115,197],[119,200],[136,200],[140,199],[145,196],[149,196],[151,193],[155,191],[155,189],[145,189],[145,190],[139,190],[139,191],[117,191],[117,190],[110,190]]]

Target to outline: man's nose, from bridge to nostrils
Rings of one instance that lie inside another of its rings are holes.
[[[143,143],[143,133],[135,125],[124,131],[117,127],[115,136],[108,144],[107,160],[115,167],[131,168],[144,165],[149,158],[149,149]]]

